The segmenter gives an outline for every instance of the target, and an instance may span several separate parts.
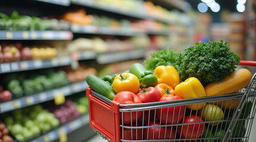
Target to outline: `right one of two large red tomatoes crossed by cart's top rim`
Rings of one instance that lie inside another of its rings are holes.
[[[180,96],[162,96],[159,101],[173,101],[182,99]],[[162,124],[177,124],[183,120],[186,106],[173,106],[157,109],[157,118]]]

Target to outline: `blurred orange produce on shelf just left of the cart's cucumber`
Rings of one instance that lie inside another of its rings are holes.
[[[60,67],[67,74],[67,79],[70,82],[79,82],[86,79],[89,74],[96,75],[97,71],[93,67],[88,67],[85,64],[79,64],[77,69],[72,69],[71,66]]]

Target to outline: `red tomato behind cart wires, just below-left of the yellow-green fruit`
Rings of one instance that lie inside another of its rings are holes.
[[[177,128],[177,134],[181,138],[198,138],[204,133],[205,125],[204,123],[200,124],[188,124],[186,123],[194,123],[194,122],[204,122],[201,117],[197,115],[187,115],[184,117],[184,121],[182,125],[179,125]]]

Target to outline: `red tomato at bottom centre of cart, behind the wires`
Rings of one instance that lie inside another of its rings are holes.
[[[150,121],[148,126],[161,126],[159,121]],[[144,128],[143,135],[145,140],[174,139],[175,130],[171,127],[150,127]],[[163,141],[160,141],[163,142]],[[174,141],[169,141],[174,142]]]

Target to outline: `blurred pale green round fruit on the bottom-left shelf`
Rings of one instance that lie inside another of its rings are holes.
[[[32,140],[60,124],[54,114],[40,104],[2,114],[1,120],[19,141]]]

